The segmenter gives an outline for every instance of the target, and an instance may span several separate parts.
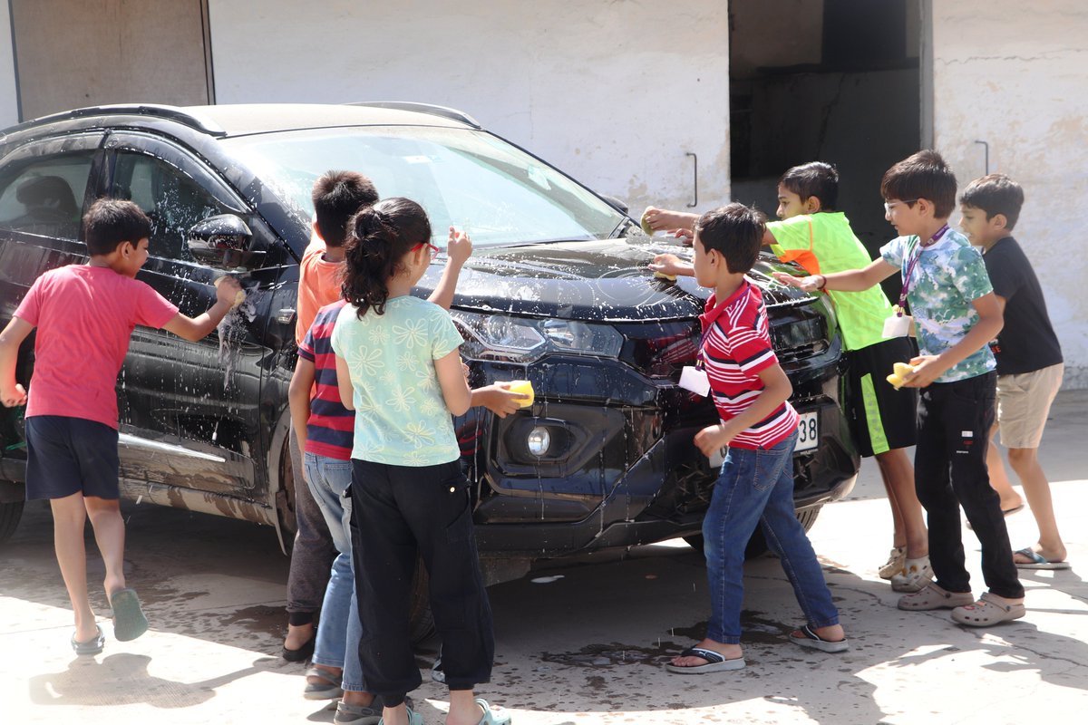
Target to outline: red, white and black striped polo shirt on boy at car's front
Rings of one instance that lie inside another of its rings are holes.
[[[721,304],[714,295],[700,315],[703,342],[700,358],[710,380],[710,395],[722,421],[747,410],[763,392],[759,372],[778,364],[770,346],[767,308],[759,289],[746,279]],[[770,448],[798,427],[798,412],[789,401],[729,441],[730,448]]]

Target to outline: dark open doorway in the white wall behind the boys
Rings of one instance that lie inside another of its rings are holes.
[[[880,178],[922,145],[923,0],[729,4],[732,198],[774,217],[790,166],[839,170],[839,210],[875,255]],[[898,290],[897,290],[898,292]]]

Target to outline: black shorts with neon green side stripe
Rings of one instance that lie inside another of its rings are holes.
[[[843,409],[862,457],[917,442],[917,388],[897,390],[887,379],[895,363],[910,362],[916,354],[914,340],[908,337],[893,337],[846,352]]]

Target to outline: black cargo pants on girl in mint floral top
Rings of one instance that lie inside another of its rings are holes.
[[[417,553],[452,690],[491,679],[491,605],[480,574],[468,480],[460,461],[398,466],[351,460],[351,557],[362,620],[367,689],[395,707],[422,682],[409,636]]]

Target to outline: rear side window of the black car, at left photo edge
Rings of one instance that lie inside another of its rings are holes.
[[[58,154],[0,173],[0,228],[79,238],[94,151]]]

